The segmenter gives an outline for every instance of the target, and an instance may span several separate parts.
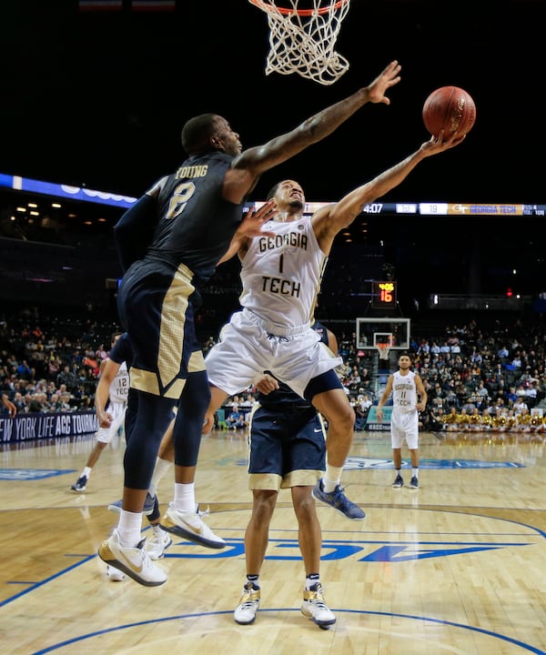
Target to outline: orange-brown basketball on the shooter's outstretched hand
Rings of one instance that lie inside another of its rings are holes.
[[[425,100],[423,122],[432,136],[438,136],[442,129],[444,139],[453,132],[466,135],[476,122],[476,105],[459,86],[441,86]]]

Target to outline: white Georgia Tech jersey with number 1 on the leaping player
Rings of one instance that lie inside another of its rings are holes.
[[[242,261],[242,307],[262,320],[295,328],[311,319],[328,257],[320,250],[311,219],[268,221],[275,237],[251,239]]]

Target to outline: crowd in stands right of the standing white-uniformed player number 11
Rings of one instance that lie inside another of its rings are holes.
[[[520,321],[488,333],[474,322],[416,344],[428,394],[423,428],[543,431],[546,334]]]

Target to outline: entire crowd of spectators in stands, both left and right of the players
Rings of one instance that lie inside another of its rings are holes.
[[[35,308],[2,317],[0,393],[19,413],[92,409],[100,362],[108,356],[106,344],[116,329],[115,322],[90,317],[63,321]],[[207,338],[205,353],[214,341]],[[451,324],[441,334],[413,339],[410,353],[428,394],[422,428],[544,429],[537,410],[546,398],[546,330],[541,321],[529,326],[520,320],[506,325],[498,321],[487,330],[474,320]],[[382,392],[374,371],[377,355],[359,350],[354,333],[341,333],[339,354],[346,365],[342,381],[355,408],[355,428],[364,429],[369,408]],[[391,371],[398,354],[390,352]],[[227,422],[245,428],[255,402],[252,388],[229,398],[227,415],[237,414],[238,421]]]

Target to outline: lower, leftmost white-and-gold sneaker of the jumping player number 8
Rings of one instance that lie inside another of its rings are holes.
[[[167,582],[167,574],[152,562],[144,548],[145,541],[142,539],[135,548],[125,548],[120,545],[115,529],[112,536],[100,545],[98,557],[141,585],[157,587]]]

